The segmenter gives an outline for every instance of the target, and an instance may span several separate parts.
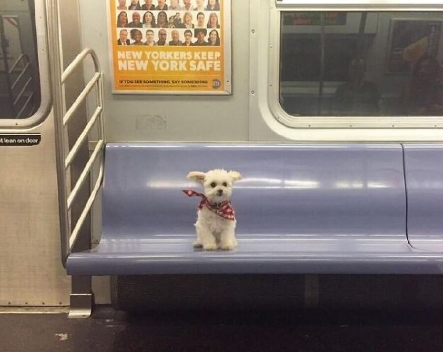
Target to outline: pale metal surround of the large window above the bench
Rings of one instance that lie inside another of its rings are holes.
[[[281,11],[443,12],[443,1],[259,0],[250,10],[251,140],[443,141],[443,116],[291,116],[279,101]]]

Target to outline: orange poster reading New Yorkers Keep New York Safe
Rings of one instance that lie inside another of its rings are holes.
[[[108,0],[113,93],[231,94],[230,0]]]

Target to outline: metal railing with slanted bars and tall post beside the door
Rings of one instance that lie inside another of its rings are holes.
[[[62,61],[60,55],[60,36],[59,36],[59,18],[58,18],[58,0],[47,0],[47,17],[48,17],[48,36],[49,36],[49,52],[50,62],[53,68],[53,74],[51,75],[51,83],[53,90],[53,104],[54,104],[54,126],[56,134],[56,161],[57,161],[57,185],[59,193],[59,214],[60,214],[60,239],[61,239],[61,252],[62,263],[66,266],[68,256],[71,254],[74,245],[80,234],[80,230],[84,225],[84,222],[91,211],[92,205],[96,199],[98,191],[103,183],[104,173],[104,122],[103,122],[103,74],[101,73],[98,57],[92,49],[85,49],[71,62],[71,64],[62,73]],[[83,64],[87,57],[91,57],[94,63],[95,74],[91,81],[86,84],[83,91],[79,94],[75,102],[71,105],[67,112],[63,114],[66,107],[63,105],[63,85],[67,78]],[[96,89],[96,104],[94,114],[88,119],[88,123],[84,130],[75,141],[71,150],[65,148],[65,129],[68,127],[69,122],[75,111],[85,101],[88,95],[91,93],[94,87]],[[69,166],[80,150],[81,146],[87,141],[87,136],[91,132],[92,128],[97,126],[98,140],[95,146],[94,152],[90,155],[88,162],[84,170],[81,172],[79,179],[77,180],[72,191],[67,191],[67,172]],[[88,177],[91,176],[91,170],[94,164],[99,160],[100,170],[98,177],[95,181],[95,186],[90,192],[90,196],[86,202],[86,205],[78,218],[74,229],[71,231],[69,225],[69,212],[75,202],[75,199],[84,185]]]

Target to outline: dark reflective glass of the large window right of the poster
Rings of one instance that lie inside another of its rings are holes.
[[[280,103],[294,116],[443,115],[440,12],[282,12]]]

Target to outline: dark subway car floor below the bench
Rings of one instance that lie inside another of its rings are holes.
[[[0,351],[443,351],[433,312],[0,314]]]

